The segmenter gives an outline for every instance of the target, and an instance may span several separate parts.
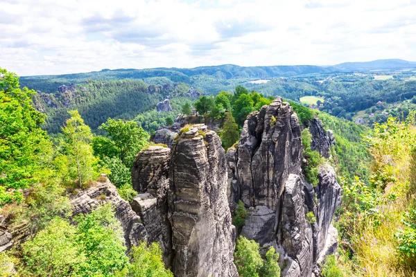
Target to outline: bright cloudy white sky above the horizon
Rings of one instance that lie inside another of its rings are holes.
[[[416,61],[416,0],[0,0],[18,75]]]

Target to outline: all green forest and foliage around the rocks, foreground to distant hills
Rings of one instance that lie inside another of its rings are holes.
[[[158,127],[172,125],[178,114],[190,115],[195,109],[203,120],[222,122],[218,134],[227,150],[239,140],[248,114],[276,96],[291,103],[302,125],[308,162],[303,170],[310,184],[318,182],[322,164],[311,150],[311,120],[320,118],[336,139],[328,162],[336,168],[344,192],[334,220],[340,242],[338,254],[322,265],[322,276],[415,274],[416,129],[410,103],[416,82],[404,81],[403,75],[375,80],[371,75],[329,78],[321,75],[325,72],[314,72],[302,80],[294,76],[248,84],[241,78],[277,73],[263,68],[237,73],[231,67],[220,78],[214,69],[210,75],[206,72],[211,69],[203,69],[207,75],[201,70],[171,69],[163,76],[158,75],[162,69],[155,69],[19,79],[0,69],[1,216],[30,233],[22,244],[0,253],[0,276],[173,276],[164,267],[157,243],[142,242],[126,255],[112,206],[72,215],[69,197],[108,177],[130,202],[137,195],[131,183],[132,162],[152,144],[150,136]],[[290,70],[308,73],[304,68]],[[316,82],[321,78],[329,79]],[[57,92],[62,82],[73,82],[75,89]],[[194,84],[198,98],[189,94]],[[306,107],[299,102],[302,96],[325,101],[322,107]],[[157,112],[155,106],[165,98],[173,111]],[[370,127],[350,120],[356,111],[371,109],[378,101],[401,102],[407,111],[400,106],[403,109],[394,116],[390,111]],[[241,228],[246,216],[239,203],[233,224]],[[313,220],[311,215],[309,221]],[[240,237],[236,242],[234,263],[240,276],[280,276],[278,260],[273,247],[261,253],[253,240]]]

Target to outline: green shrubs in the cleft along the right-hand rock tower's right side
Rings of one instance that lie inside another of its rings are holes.
[[[313,186],[316,186],[319,182],[318,174],[319,168],[322,165],[322,158],[318,151],[311,150],[312,136],[309,129],[305,128],[302,131],[302,145],[303,155],[306,159],[306,165],[303,166],[304,175],[306,181]]]

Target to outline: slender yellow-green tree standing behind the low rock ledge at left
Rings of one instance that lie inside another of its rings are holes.
[[[93,166],[97,162],[90,145],[92,132],[78,111],[69,111],[69,115],[71,118],[62,128],[62,148],[67,157],[69,181],[76,180],[78,187],[82,187],[94,178]]]

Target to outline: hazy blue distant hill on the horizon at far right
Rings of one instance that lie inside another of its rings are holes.
[[[343,71],[416,69],[416,62],[406,60],[374,60],[372,62],[343,62],[332,66]]]

